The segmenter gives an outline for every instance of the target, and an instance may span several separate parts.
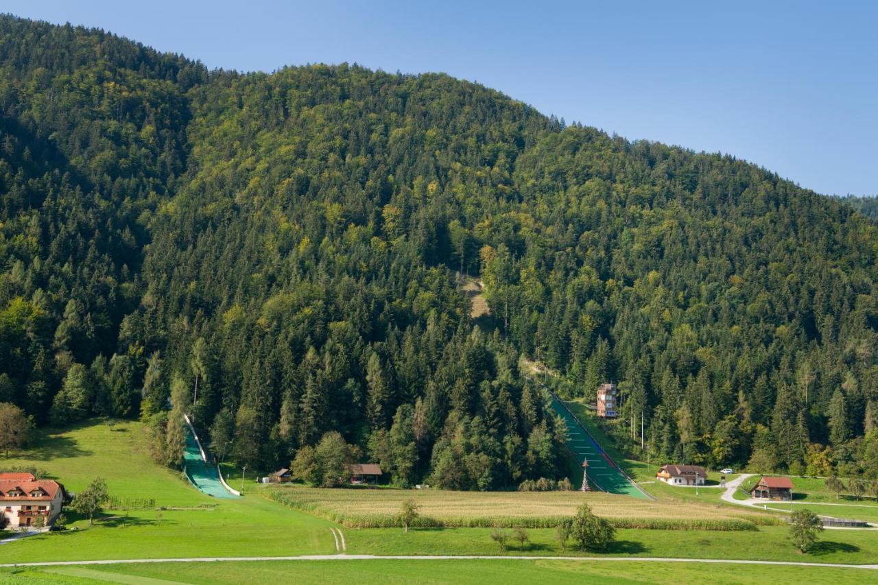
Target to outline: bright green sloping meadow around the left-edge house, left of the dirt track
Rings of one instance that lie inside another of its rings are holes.
[[[42,534],[4,545],[7,562],[18,560],[90,560],[210,555],[288,555],[333,553],[328,527],[314,516],[269,502],[258,495],[214,500],[199,493],[179,473],[148,458],[140,423],[83,425],[48,432],[32,451],[0,465],[47,470],[73,491],[96,475],[112,495],[155,498],[158,506],[215,505],[214,509],[112,512],[93,528],[66,511],[78,530]]]

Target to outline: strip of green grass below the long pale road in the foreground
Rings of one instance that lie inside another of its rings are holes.
[[[51,571],[51,573],[49,572]],[[0,573],[0,579],[2,579]],[[579,562],[565,560],[358,560],[117,565],[28,570],[20,582],[40,578],[92,582],[123,581],[137,575],[155,580],[194,583],[296,582],[339,583],[856,583],[874,574],[862,569],[760,567],[681,563]],[[355,576],[356,575],[356,576]],[[127,581],[139,582],[139,581]],[[140,581],[161,582],[161,581]]]

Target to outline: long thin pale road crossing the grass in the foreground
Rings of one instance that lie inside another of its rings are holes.
[[[552,557],[552,556],[500,556],[500,555],[373,555],[373,554],[303,554],[293,557],[193,557],[188,559],[119,559],[119,560],[54,560],[28,563],[5,563],[9,567],[65,567],[78,565],[119,565],[128,563],[198,563],[244,560],[580,560],[624,561],[645,563],[723,563],[730,565],[783,565],[789,567],[836,567],[878,570],[878,565],[845,565],[842,563],[809,563],[791,560],[727,560],[727,559],[666,559],[662,557]]]

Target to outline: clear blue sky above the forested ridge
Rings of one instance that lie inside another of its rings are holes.
[[[211,68],[443,71],[629,139],[878,194],[878,3],[10,0]],[[709,5],[708,5],[709,4]],[[770,5],[769,5],[770,4]]]

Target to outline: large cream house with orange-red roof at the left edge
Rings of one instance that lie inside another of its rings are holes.
[[[42,516],[49,525],[61,514],[64,486],[53,480],[38,480],[32,473],[0,473],[0,514],[8,528],[33,526]]]

